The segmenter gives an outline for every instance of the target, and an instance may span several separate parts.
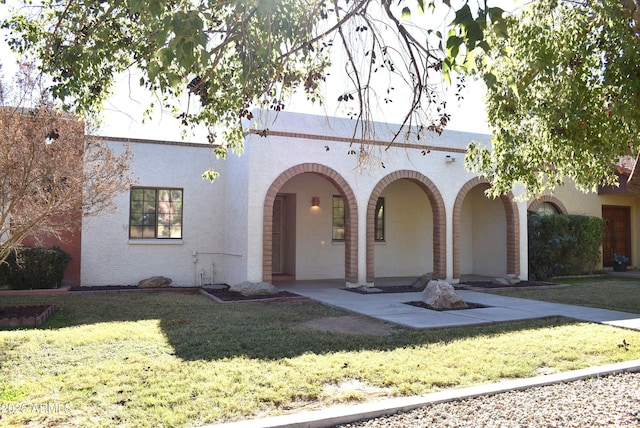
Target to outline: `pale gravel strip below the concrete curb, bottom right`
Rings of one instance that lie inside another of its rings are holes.
[[[336,427],[640,427],[640,372],[429,405]]]

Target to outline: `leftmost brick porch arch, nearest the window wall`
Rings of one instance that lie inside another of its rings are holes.
[[[317,163],[296,165],[280,174],[271,184],[264,198],[263,229],[262,229],[262,280],[272,280],[272,230],[273,204],[280,188],[290,179],[305,173],[317,174],[333,184],[345,201],[345,251],[344,272],[345,280],[349,283],[358,282],[358,205],[355,194],[347,181],[335,170]]]

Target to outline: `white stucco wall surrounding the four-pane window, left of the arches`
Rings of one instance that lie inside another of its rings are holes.
[[[126,143],[110,145],[119,151]],[[137,185],[184,189],[183,237],[130,240],[129,193],[123,193],[116,198],[115,212],[83,220],[82,285],[132,285],[153,275],[167,276],[175,285],[194,285],[201,271],[210,276],[212,264],[222,275],[216,282],[224,280],[224,185],[201,178],[210,166],[210,149],[138,142],[130,147]],[[217,167],[224,176],[225,165]]]

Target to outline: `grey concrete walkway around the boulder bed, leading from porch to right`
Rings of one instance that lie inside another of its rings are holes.
[[[400,281],[402,284],[410,283]],[[563,316],[579,321],[640,330],[640,314],[547,303],[476,291],[460,290],[458,294],[466,302],[487,307],[437,312],[405,304],[420,300],[420,292],[359,294],[345,290],[343,281],[283,281],[278,282],[277,286],[281,290],[291,291],[329,306],[416,329],[461,327]]]

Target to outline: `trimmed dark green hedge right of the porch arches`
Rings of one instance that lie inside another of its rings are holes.
[[[600,260],[605,222],[583,215],[529,213],[529,276],[589,274]]]

